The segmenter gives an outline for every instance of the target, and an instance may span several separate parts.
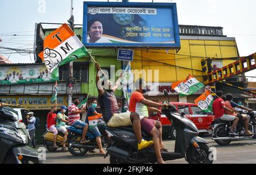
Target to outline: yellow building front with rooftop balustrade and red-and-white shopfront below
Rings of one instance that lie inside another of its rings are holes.
[[[131,69],[137,70],[135,71],[137,73],[140,72],[139,75],[135,75],[135,79],[140,76],[148,83],[159,83],[154,93],[151,93],[151,97],[147,96],[148,99],[167,100],[163,96],[163,89],[168,89],[171,100],[194,103],[193,101],[204,92],[204,89],[195,95],[180,98],[171,90],[171,83],[184,80],[188,74],[203,83],[202,59],[210,58],[213,67],[220,68],[229,65],[234,62],[234,58],[239,57],[236,39],[222,35],[221,27],[216,29],[190,26],[187,32],[180,31],[180,43],[179,51],[135,50]],[[233,58],[233,60],[226,58]]]

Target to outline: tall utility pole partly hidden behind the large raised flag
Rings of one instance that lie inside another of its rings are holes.
[[[74,27],[75,27],[73,10],[74,10],[73,0],[71,0],[71,18],[68,20],[68,23],[72,31],[74,31]],[[68,106],[71,106],[71,103],[72,103],[72,91],[73,91],[73,61],[69,62]]]

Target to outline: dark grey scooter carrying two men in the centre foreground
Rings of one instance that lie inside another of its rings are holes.
[[[164,91],[168,97],[168,92]],[[212,164],[213,153],[207,146],[207,141],[197,136],[199,131],[189,119],[177,113],[174,105],[168,103],[168,108],[162,112],[172,122],[177,131],[174,152],[161,152],[164,161],[182,159],[191,164]],[[132,127],[107,127],[110,144],[106,156],[110,155],[111,164],[122,163],[156,163],[155,151],[151,147],[138,151],[137,139]],[[142,131],[145,140],[152,140],[151,136]],[[105,157],[106,157],[105,156]]]

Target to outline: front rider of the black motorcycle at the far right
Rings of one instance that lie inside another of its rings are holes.
[[[227,108],[229,108],[230,110],[234,110],[235,108],[240,108],[240,109],[243,109],[243,110],[247,110],[248,112],[251,112],[253,111],[252,109],[247,109],[243,106],[240,106],[236,103],[234,103],[233,101],[233,95],[231,93],[228,93],[226,95],[226,101],[225,101],[225,104],[227,106]],[[225,113],[226,114],[229,114],[229,115],[233,115],[233,116],[238,116],[240,114],[237,114],[236,112],[233,112],[233,113],[230,113],[228,110],[225,110]],[[245,122],[245,134],[247,136],[252,136],[253,133],[251,133],[248,129],[249,129],[249,123],[250,123],[250,117],[247,116],[246,114],[241,114],[242,118],[243,118],[243,122]]]

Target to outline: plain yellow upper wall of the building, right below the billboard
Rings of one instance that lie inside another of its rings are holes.
[[[188,74],[195,76],[203,82],[201,72],[201,59],[204,58],[233,58],[238,57],[236,41],[212,41],[212,40],[180,40],[181,49],[178,53],[175,50],[135,50],[134,61],[131,62],[133,70],[158,70],[159,78],[152,82],[177,82],[183,80]],[[232,60],[222,61],[226,66]],[[154,71],[153,71],[154,72]],[[149,80],[145,72],[143,78]],[[140,75],[142,77],[142,75]]]

